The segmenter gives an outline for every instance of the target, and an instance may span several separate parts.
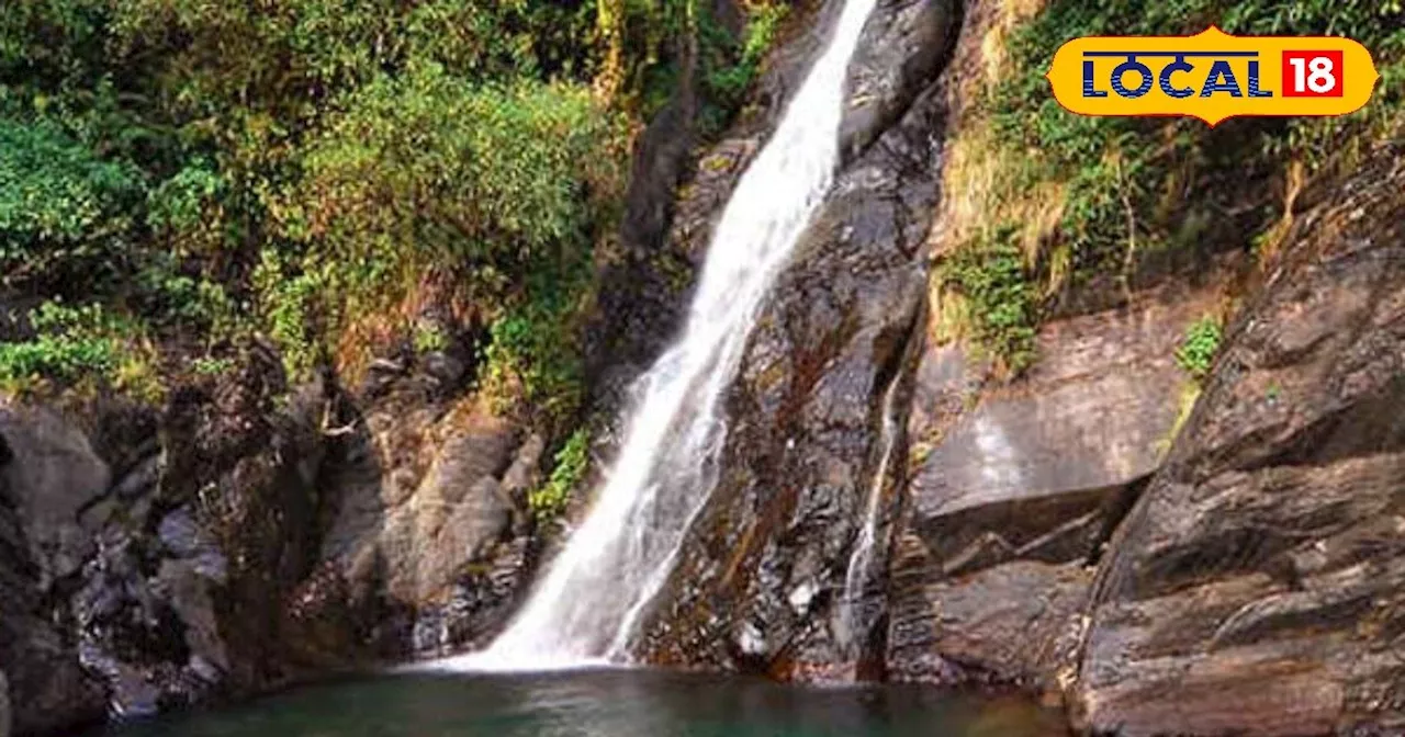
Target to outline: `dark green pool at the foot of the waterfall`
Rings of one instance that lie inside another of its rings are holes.
[[[656,671],[386,675],[108,727],[104,737],[1044,737],[1059,715],[932,688]]]

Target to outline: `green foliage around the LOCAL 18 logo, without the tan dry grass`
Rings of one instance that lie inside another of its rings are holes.
[[[1235,119],[1210,129],[1197,119],[1087,118],[1064,111],[1044,73],[1065,41],[1083,35],[1176,35],[1218,24],[1231,34],[1340,34],[1361,41],[1385,81],[1366,111],[1291,122]],[[1061,182],[1062,219],[1054,239],[1071,253],[1073,275],[1128,264],[1130,248],[1193,248],[1214,236],[1245,237],[1281,205],[1266,197],[1283,156],[1326,163],[1353,138],[1399,118],[1405,87],[1405,11],[1364,0],[1052,0],[1009,44],[1013,74],[985,105],[1019,170],[1016,191]],[[1390,80],[1395,80],[1391,84]],[[1246,182],[1260,182],[1249,185]]]

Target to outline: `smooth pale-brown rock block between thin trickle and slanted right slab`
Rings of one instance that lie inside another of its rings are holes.
[[[1057,688],[1092,564],[1193,399],[1176,347],[1217,296],[1168,285],[1051,323],[1009,386],[958,344],[927,348],[891,571],[894,678]]]

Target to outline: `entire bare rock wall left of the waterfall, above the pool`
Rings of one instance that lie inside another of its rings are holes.
[[[445,361],[351,397],[289,390],[256,345],[243,369],[177,387],[160,410],[0,406],[15,731],[488,636],[531,567],[525,493],[544,444],[436,392]]]

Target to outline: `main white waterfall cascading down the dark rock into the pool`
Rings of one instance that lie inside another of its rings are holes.
[[[846,1],[829,46],[732,192],[684,331],[641,379],[594,507],[509,629],[447,667],[540,670],[627,656],[712,490],[726,434],[719,400],[756,312],[833,180],[849,59],[874,1]]]

